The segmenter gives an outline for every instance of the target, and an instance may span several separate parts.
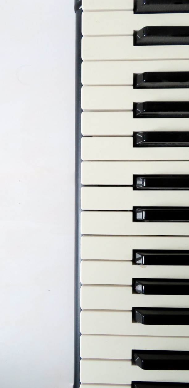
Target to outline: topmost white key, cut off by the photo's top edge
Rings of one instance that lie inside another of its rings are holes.
[[[84,11],[133,10],[133,0],[82,0]]]

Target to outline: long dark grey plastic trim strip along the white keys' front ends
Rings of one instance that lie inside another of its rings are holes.
[[[77,2],[79,3],[79,2]],[[74,382],[79,388],[80,364],[80,189],[81,189],[81,14],[78,9],[75,18],[75,288],[74,288]]]

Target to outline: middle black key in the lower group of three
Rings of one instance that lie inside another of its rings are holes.
[[[189,280],[133,279],[133,291],[144,295],[189,295]]]

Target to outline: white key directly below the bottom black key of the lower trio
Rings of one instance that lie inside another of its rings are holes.
[[[142,325],[132,322],[132,311],[82,310],[81,334],[188,337],[187,325]]]

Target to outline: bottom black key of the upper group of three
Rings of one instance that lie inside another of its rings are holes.
[[[189,132],[134,132],[133,147],[189,147]]]

